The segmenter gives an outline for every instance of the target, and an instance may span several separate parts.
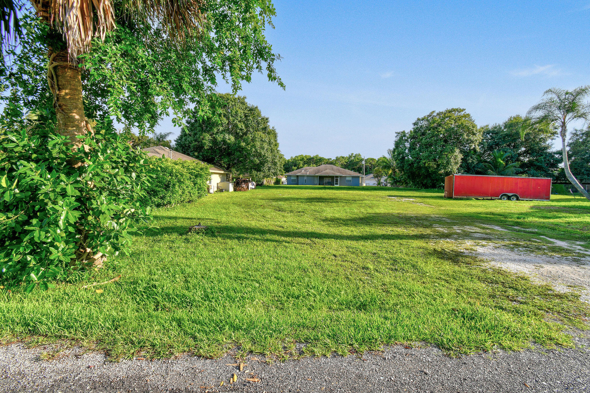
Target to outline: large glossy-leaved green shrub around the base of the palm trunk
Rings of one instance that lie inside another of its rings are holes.
[[[50,123],[51,124],[51,123]],[[137,224],[150,220],[143,187],[146,154],[112,127],[81,137],[71,151],[53,126],[0,127],[0,268],[3,280],[30,291],[64,278],[83,250],[127,253]],[[82,163],[73,166],[71,163]]]

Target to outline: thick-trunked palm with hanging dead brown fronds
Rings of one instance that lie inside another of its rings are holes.
[[[47,81],[54,95],[58,132],[69,137],[74,148],[82,144],[76,136],[92,132],[84,113],[77,56],[89,52],[94,37],[104,41],[106,33],[116,27],[115,6],[129,18],[163,27],[169,37],[179,41],[198,34],[205,23],[201,12],[204,0],[30,1],[41,20],[63,36],[63,48],[47,48]],[[0,44],[3,48],[20,34],[16,4],[15,0],[0,0]]]

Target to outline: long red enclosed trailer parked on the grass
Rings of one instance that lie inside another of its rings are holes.
[[[444,196],[446,198],[549,200],[551,179],[548,177],[452,174],[444,179]]]

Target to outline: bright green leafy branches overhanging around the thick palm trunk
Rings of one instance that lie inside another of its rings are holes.
[[[191,108],[211,97],[219,78],[238,91],[253,72],[264,71],[283,87],[274,70],[280,55],[264,37],[275,15],[269,1],[212,0],[201,9],[207,22],[198,39],[179,41],[165,26],[149,18],[126,18],[126,9],[114,6],[117,28],[105,32],[104,41],[94,38],[89,51],[78,57],[86,118],[112,117],[125,130],[145,133],[169,113],[175,124],[194,115]],[[19,50],[8,51],[12,61],[2,71],[5,97],[9,94],[6,98],[21,104],[25,113],[53,110],[47,47],[65,42],[29,8],[22,8],[20,25],[24,35]],[[211,105],[199,107],[199,116],[211,115]]]

